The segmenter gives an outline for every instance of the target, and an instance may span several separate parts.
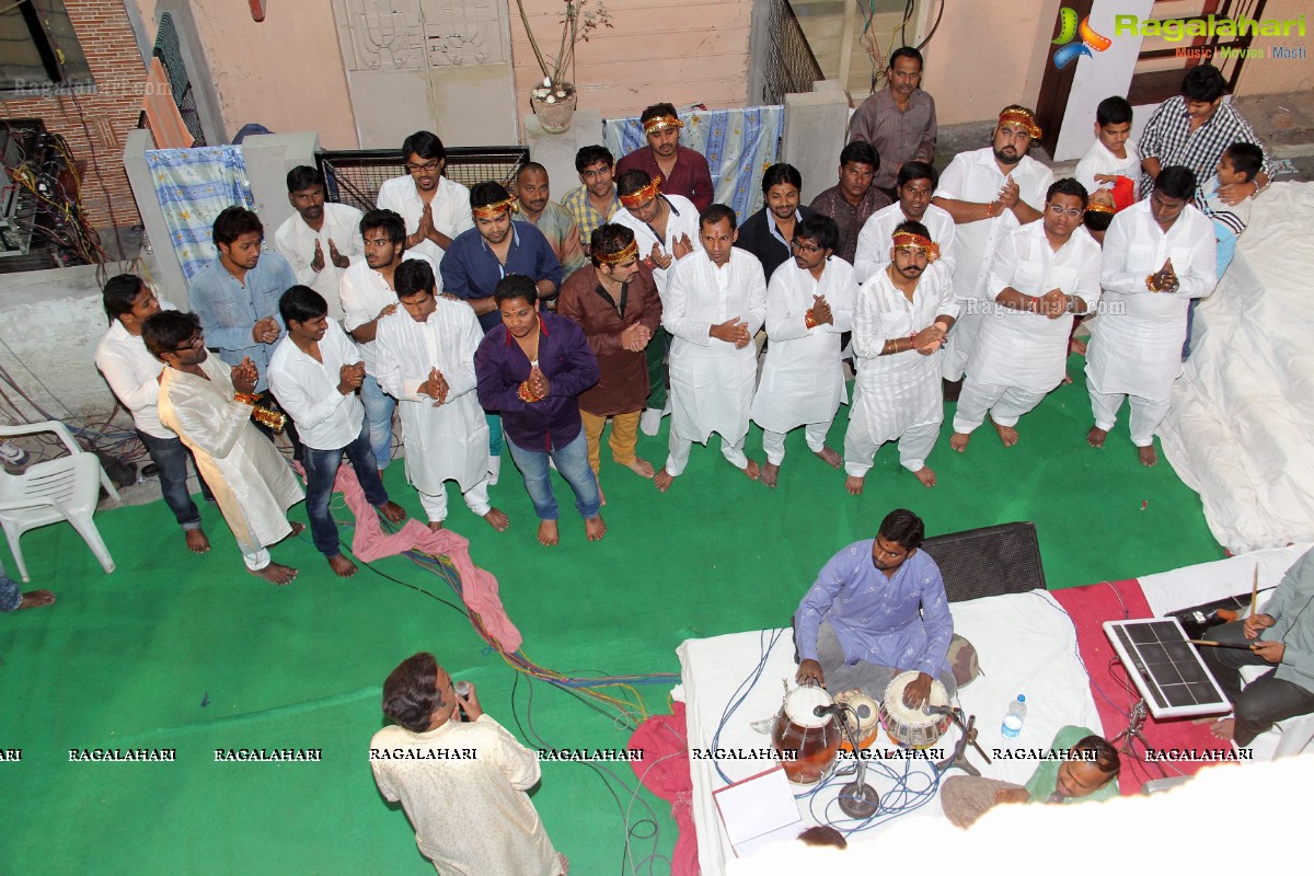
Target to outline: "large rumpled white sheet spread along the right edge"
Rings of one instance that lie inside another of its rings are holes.
[[[1314,540],[1314,183],[1255,198],[1159,429],[1219,544],[1244,552]]]

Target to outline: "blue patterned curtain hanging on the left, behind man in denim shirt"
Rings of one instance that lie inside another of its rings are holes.
[[[215,257],[210,227],[225,208],[255,208],[246,160],[237,146],[164,148],[146,152],[155,197],[164,211],[173,251],[191,280]]]

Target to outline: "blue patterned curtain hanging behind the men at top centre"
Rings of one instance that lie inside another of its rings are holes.
[[[757,213],[762,206],[762,173],[781,154],[784,108],[692,110],[681,113],[679,121],[685,122],[681,146],[707,158],[716,202],[733,208],[740,222]],[[608,118],[603,137],[618,159],[648,146],[637,116]]]

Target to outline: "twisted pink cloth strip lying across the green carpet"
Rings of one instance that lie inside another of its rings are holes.
[[[300,470],[301,466],[297,468]],[[466,608],[480,616],[484,629],[497,640],[503,651],[510,654],[520,650],[524,640],[520,637],[520,630],[507,617],[506,608],[502,607],[502,599],[497,592],[497,578],[493,573],[476,566],[474,561],[470,559],[468,538],[451,529],[434,532],[414,519],[407,520],[394,533],[384,532],[378,515],[365,499],[365,491],[360,489],[356,471],[350,465],[338,468],[334,491],[342,493],[347,507],[356,515],[356,533],[351,538],[351,552],[359,559],[374,562],[411,549],[423,550],[435,557],[445,554],[461,577],[461,596]]]

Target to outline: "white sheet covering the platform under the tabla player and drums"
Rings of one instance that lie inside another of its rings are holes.
[[[976,716],[978,741],[987,754],[995,756],[993,749],[1046,749],[1054,734],[1067,724],[1079,724],[1101,730],[1099,712],[1091,697],[1089,678],[1076,650],[1076,630],[1067,612],[1045,591],[989,596],[966,603],[954,603],[954,626],[966,636],[980,655],[983,674],[976,682],[959,692],[962,707],[968,714]],[[716,764],[699,758],[695,750],[714,749],[714,738],[721,716],[741,683],[749,678],[762,658],[765,644],[778,630],[732,633],[715,638],[687,640],[679,649],[682,667],[682,687],[687,704],[687,725],[690,745],[690,774],[694,783],[694,822],[698,829],[698,856],[702,872],[707,876],[724,873],[727,862],[735,856],[725,838],[712,802],[712,791],[725,783],[716,772]],[[757,684],[748,691],[742,704],[729,717],[721,730],[719,747],[731,750],[756,750],[770,747],[770,737],[757,733],[750,724],[770,718],[781,708],[784,695],[782,680],[794,687],[794,644],[790,630],[779,630],[775,646],[766,657],[766,667]],[[1028,716],[1018,739],[1005,741],[1000,737],[1000,722],[1008,704],[1018,693],[1026,695]],[[1117,733],[1121,728],[1109,730]],[[937,743],[937,747],[951,750],[958,739],[957,729]],[[880,742],[888,742],[882,734]],[[1035,770],[1031,759],[995,759],[991,766],[982,762],[980,755],[968,749],[970,760],[989,777],[1024,783]],[[887,760],[891,767],[909,764],[915,776],[909,784],[921,780],[930,783],[930,770],[925,762]],[[725,775],[737,781],[767,764],[762,760],[721,760]],[[961,775],[958,771],[950,775]],[[832,781],[817,792],[809,808],[807,799],[799,800],[804,822],[817,823],[811,810],[821,813],[827,804],[834,800],[837,789],[849,779]],[[894,787],[888,777],[867,771],[867,781],[882,797]],[[837,813],[833,808],[832,813]],[[943,820],[938,799],[930,800],[920,809],[884,821],[870,829],[849,835],[850,843],[865,843],[883,833],[890,825],[915,818]],[[947,823],[947,822],[945,822]]]

